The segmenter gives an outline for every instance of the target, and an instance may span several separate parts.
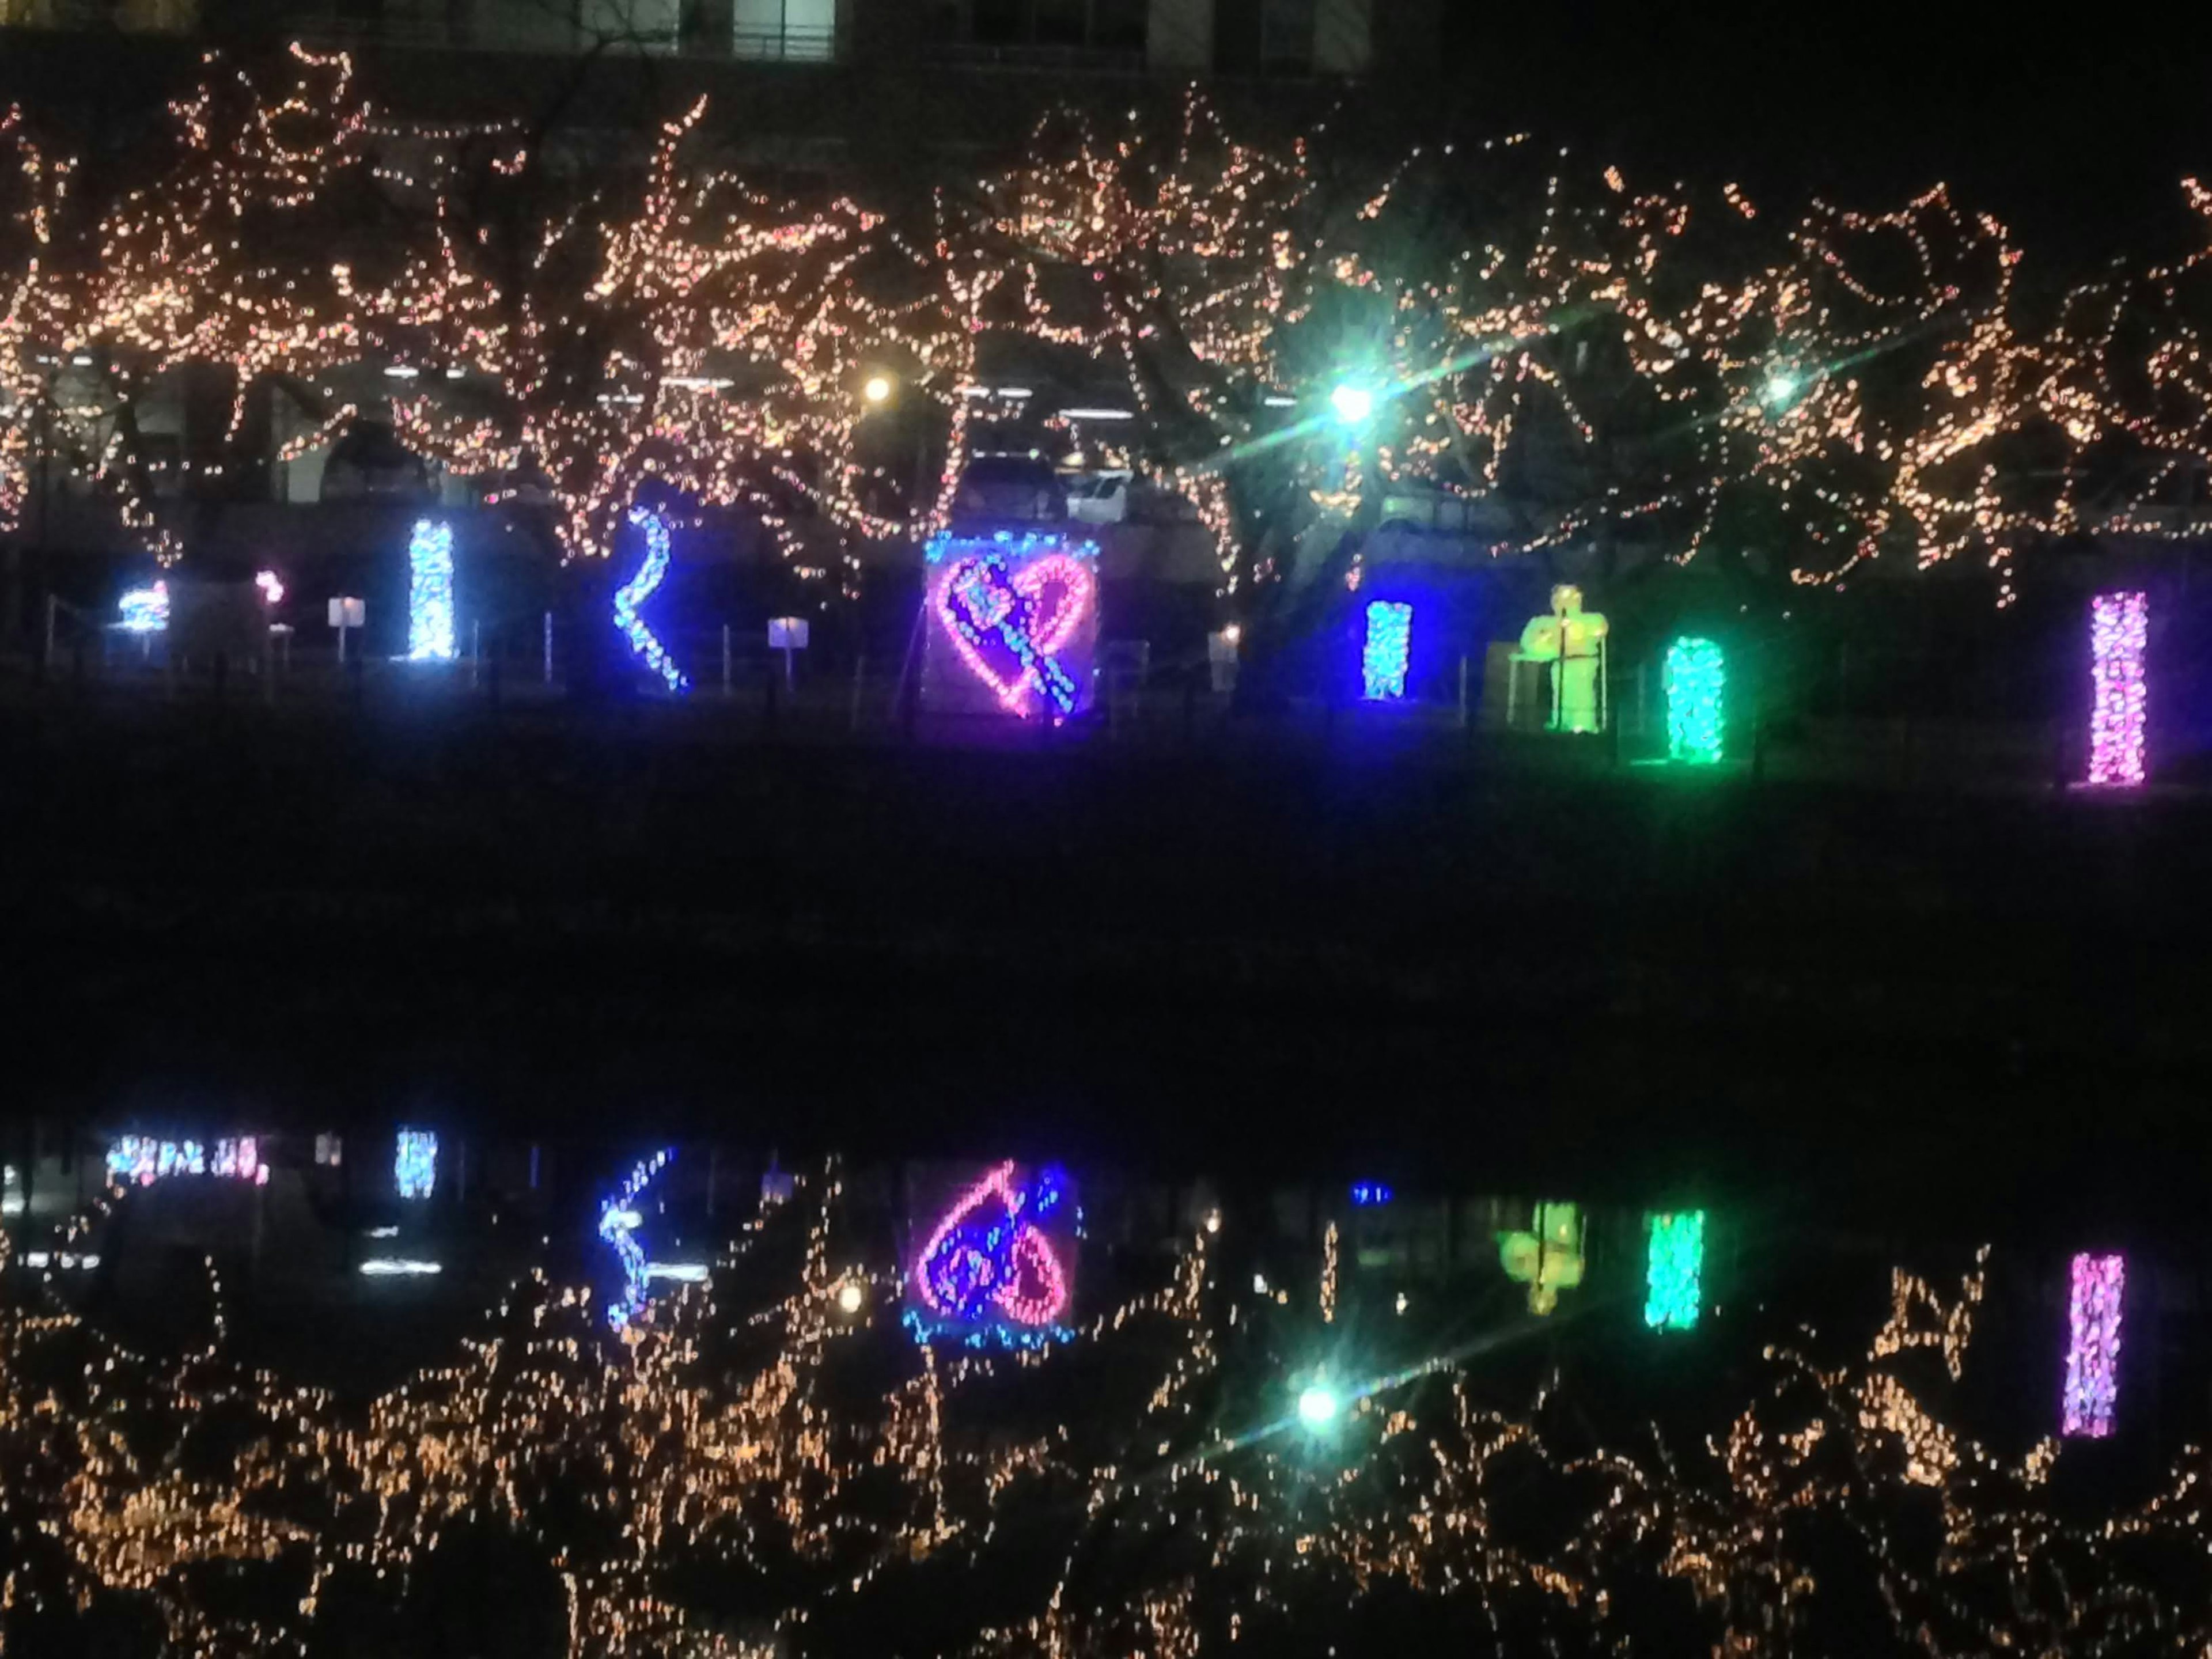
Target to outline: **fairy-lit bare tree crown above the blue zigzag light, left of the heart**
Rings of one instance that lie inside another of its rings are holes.
[[[887,498],[856,431],[887,365],[958,411],[973,347],[947,272],[847,199],[810,212],[692,168],[703,113],[666,124],[635,199],[518,208],[529,150],[453,135],[405,261],[338,272],[363,336],[418,374],[403,436],[462,473],[535,458],[571,555],[604,555],[655,489],[754,509],[787,557],[805,513],[841,538],[931,526],[942,491]]]

